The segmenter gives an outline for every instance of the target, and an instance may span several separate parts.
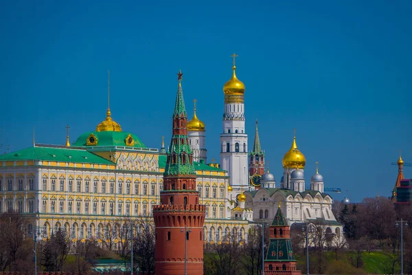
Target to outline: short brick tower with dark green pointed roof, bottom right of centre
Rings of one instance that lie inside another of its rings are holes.
[[[301,274],[296,270],[295,255],[290,243],[290,227],[280,209],[280,203],[271,225],[269,239],[271,243],[264,257],[264,274]]]

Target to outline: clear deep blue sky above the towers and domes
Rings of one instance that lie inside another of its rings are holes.
[[[87,2],[87,3],[86,3]],[[411,1],[7,1],[0,9],[0,143],[63,144],[111,110],[150,147],[168,141],[176,73],[219,159],[231,57],[277,181],[293,129],[325,187],[352,201],[389,196],[402,149],[412,162]],[[412,168],[404,168],[412,177]],[[348,190],[347,192],[345,190]]]

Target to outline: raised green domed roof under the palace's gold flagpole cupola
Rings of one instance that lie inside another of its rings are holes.
[[[128,133],[128,132],[115,132],[115,131],[102,131],[102,132],[86,132],[82,133],[80,137],[71,144],[72,146],[87,146],[87,138],[89,135],[95,135],[98,140],[98,144],[95,146],[126,146],[126,137],[128,135],[131,135],[133,137],[133,140],[135,141],[135,145],[131,147],[139,147],[139,148],[147,148],[146,145],[141,142],[139,137],[133,133]]]

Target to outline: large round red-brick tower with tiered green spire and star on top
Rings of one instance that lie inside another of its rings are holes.
[[[178,76],[173,135],[163,173],[161,204],[153,208],[156,275],[203,274],[205,206],[199,204],[196,190],[196,170],[187,137],[187,113],[181,86],[183,74],[179,72]]]

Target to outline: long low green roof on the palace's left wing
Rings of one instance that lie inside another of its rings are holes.
[[[0,162],[46,160],[50,162],[77,162],[85,164],[113,164],[89,151],[78,148],[29,147],[6,155],[0,155]]]

